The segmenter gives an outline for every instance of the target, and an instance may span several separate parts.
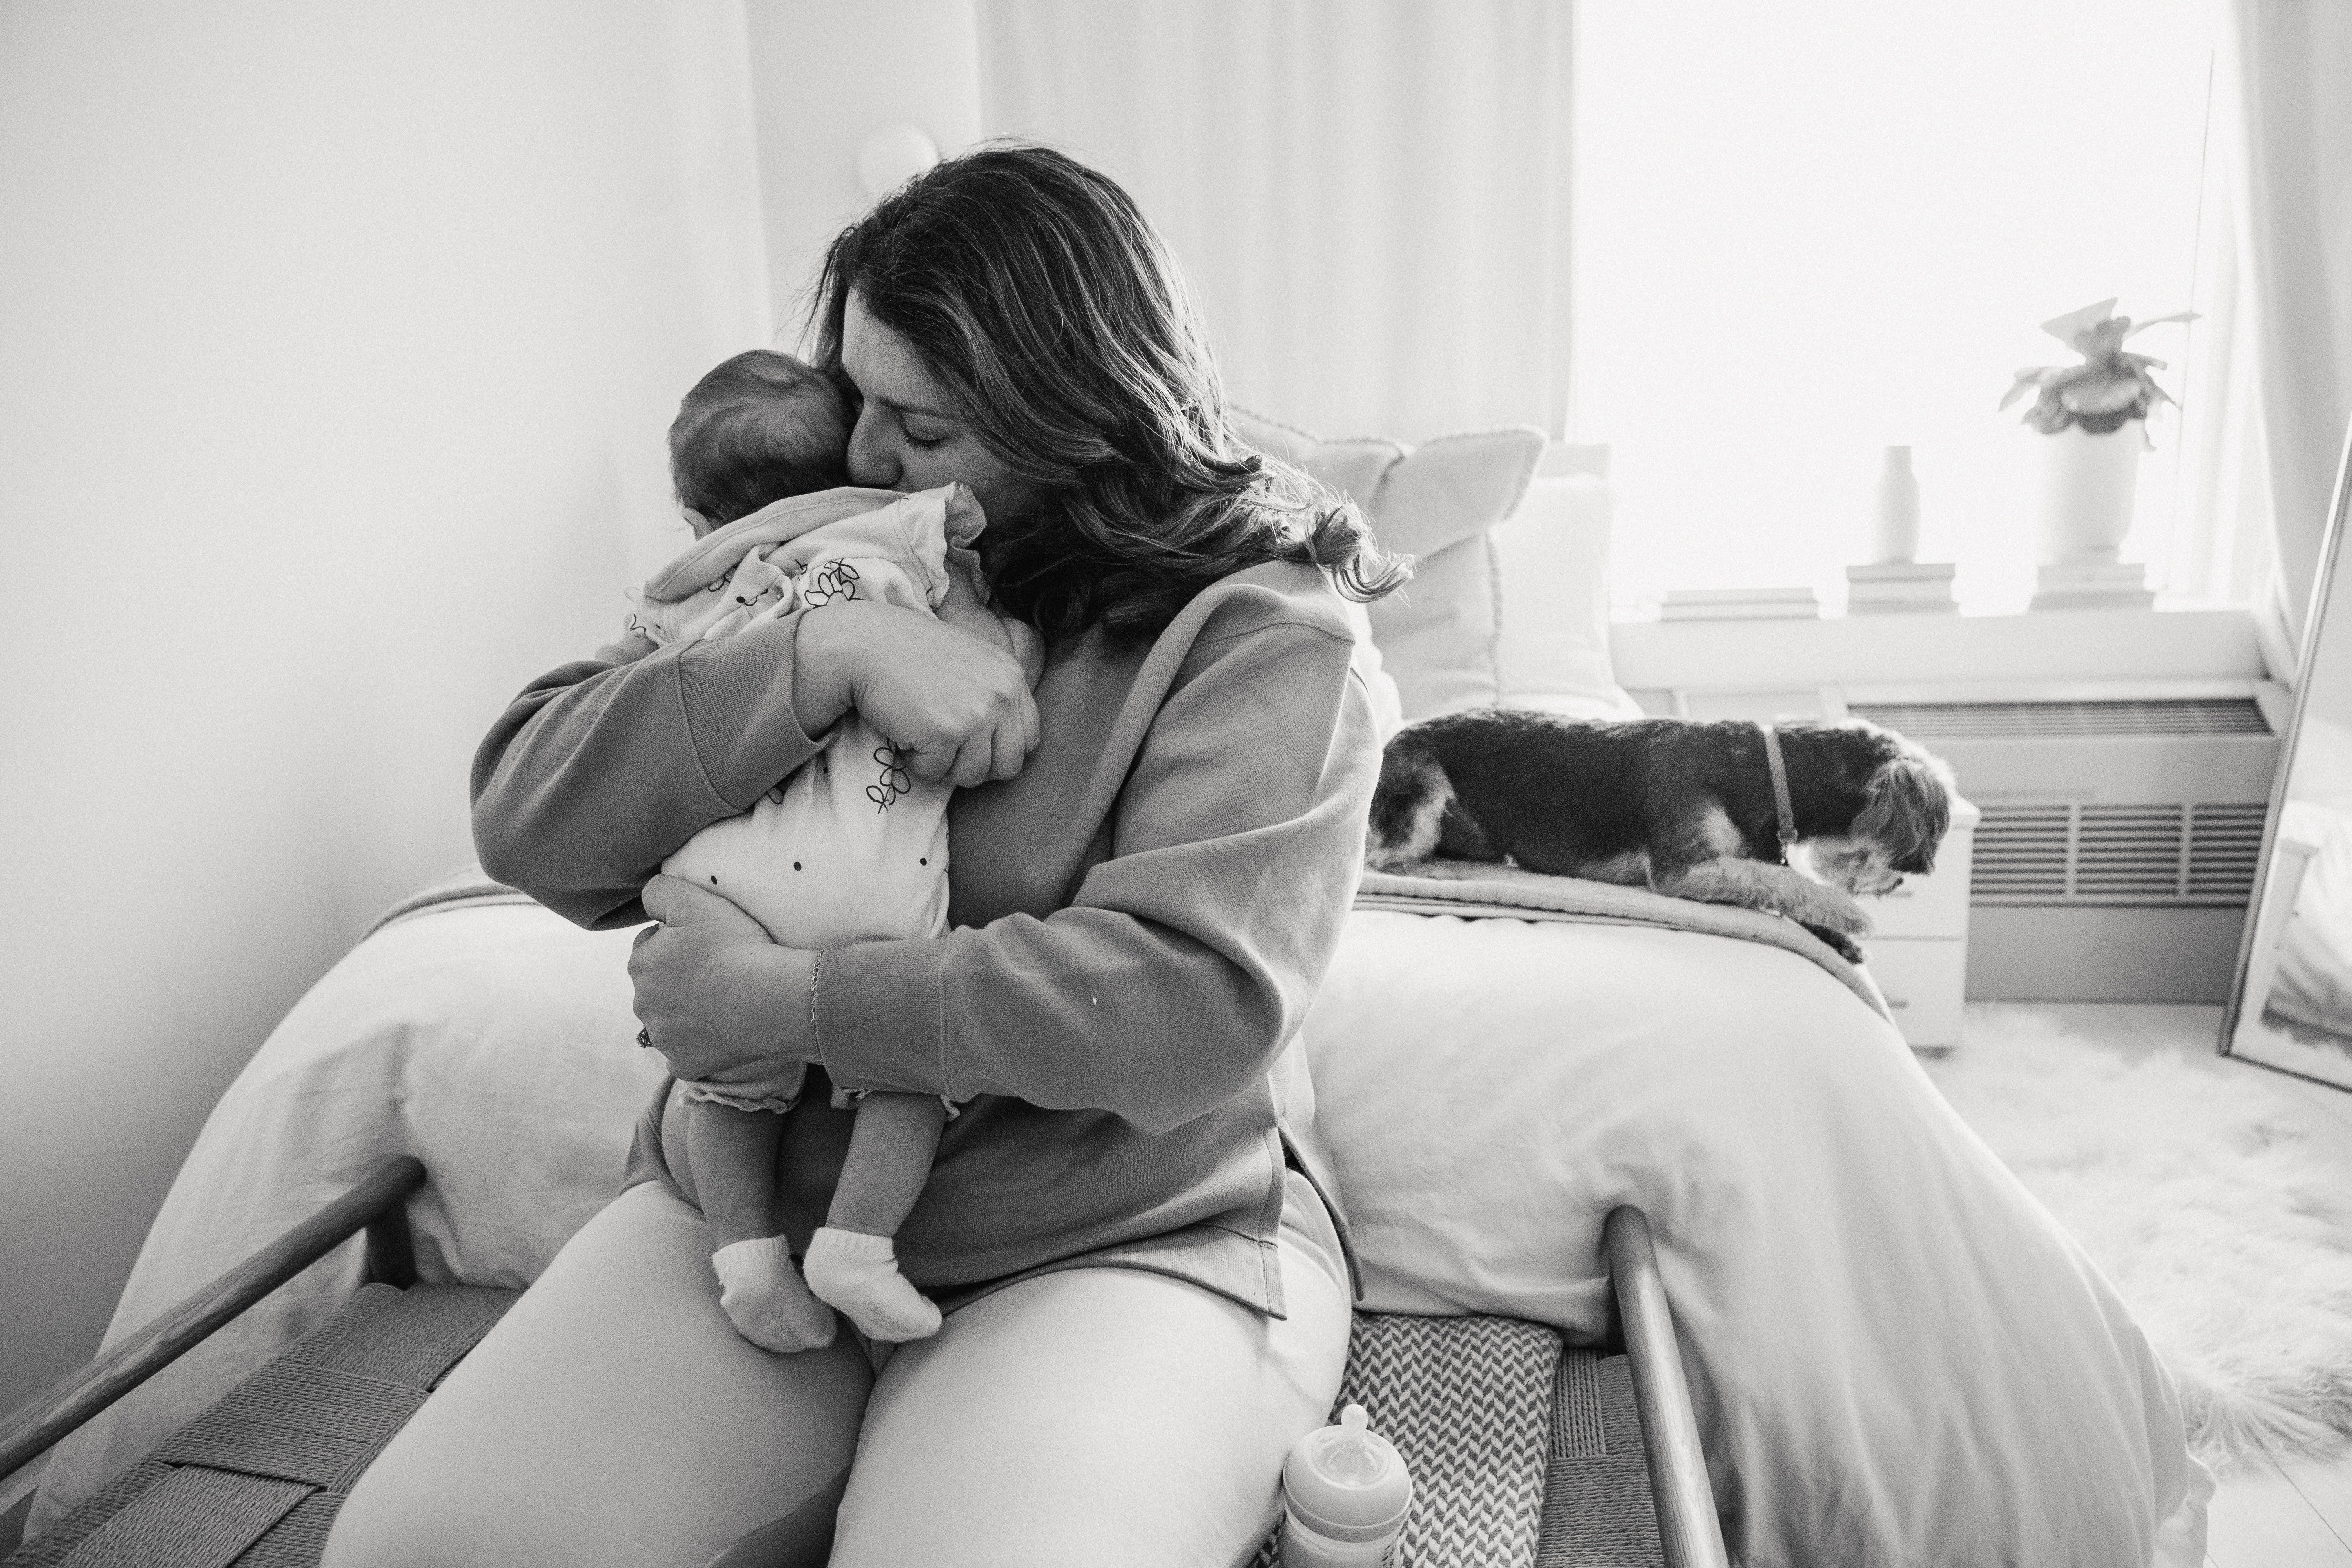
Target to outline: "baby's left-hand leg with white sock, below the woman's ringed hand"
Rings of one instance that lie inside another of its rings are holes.
[[[776,1152],[783,1117],[699,1100],[687,1117],[694,1197],[715,1248],[720,1307],[736,1331],[783,1354],[833,1342],[833,1312],[809,1295],[793,1253],[776,1234]]]

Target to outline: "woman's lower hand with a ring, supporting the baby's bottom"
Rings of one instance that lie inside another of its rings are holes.
[[[644,884],[659,926],[637,933],[628,978],[637,1020],[670,1074],[771,1093],[816,1060],[816,954],[779,947],[743,910],[680,877]]]

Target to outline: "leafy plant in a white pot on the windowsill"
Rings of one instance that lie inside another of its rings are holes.
[[[2091,578],[2105,576],[2098,567],[2122,555],[2140,454],[2152,447],[2147,411],[2171,402],[2150,374],[2164,369],[2164,360],[2126,353],[2124,341],[2161,322],[2194,317],[2194,310],[2180,310],[2133,324],[2129,315],[2114,315],[2112,299],[2070,310],[2042,322],[2042,331],[2079,353],[2082,362],[2020,369],[2002,397],[2006,409],[2027,388],[2037,393],[2025,423],[2044,437],[2037,508],[2042,564],[2058,567],[2060,576],[2065,569],[2089,574],[2082,588],[2091,588]],[[2129,595],[2145,602],[2136,569],[2131,578]],[[2044,571],[2044,590],[2051,585],[2051,574]]]

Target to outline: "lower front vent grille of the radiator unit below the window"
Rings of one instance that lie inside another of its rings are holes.
[[[1969,875],[1973,903],[2246,903],[2263,851],[2256,804],[1985,806]]]

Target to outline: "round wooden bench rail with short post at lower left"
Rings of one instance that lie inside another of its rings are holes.
[[[383,1161],[358,1187],[33,1399],[0,1427],[0,1481],[360,1229],[367,1229],[372,1274],[383,1284],[414,1284],[402,1201],[423,1185],[421,1159],[402,1154]]]

